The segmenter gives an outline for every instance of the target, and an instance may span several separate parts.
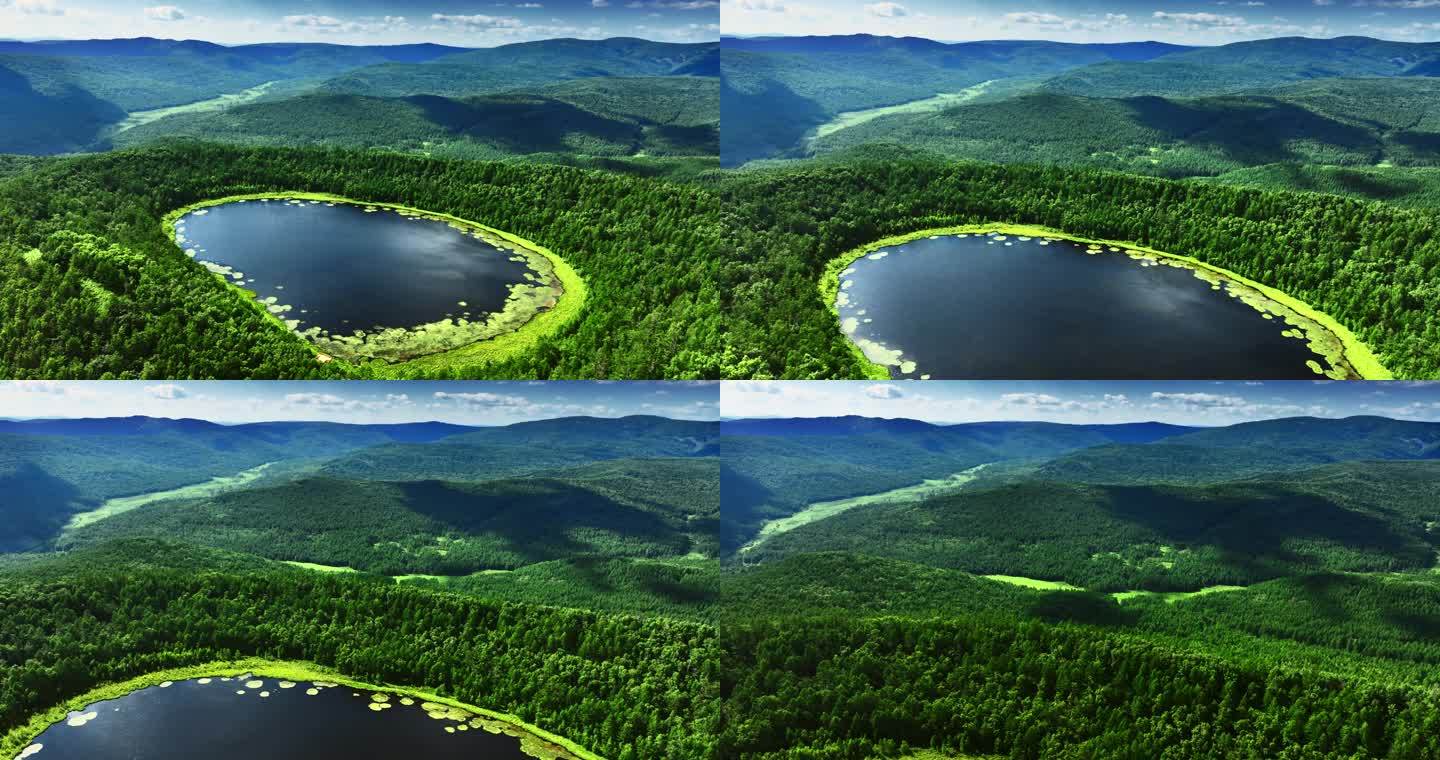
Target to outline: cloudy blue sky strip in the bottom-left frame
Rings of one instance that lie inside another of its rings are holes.
[[[7,381],[0,417],[206,419],[222,423],[328,420],[458,425],[658,415],[713,420],[716,383],[442,381]]]

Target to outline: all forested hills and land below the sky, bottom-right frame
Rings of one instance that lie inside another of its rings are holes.
[[[888,488],[847,466],[857,451],[914,459],[912,482],[935,476],[912,452],[953,472],[986,440],[1001,459],[762,533],[729,563],[724,754],[1440,751],[1433,423],[726,426],[724,476],[749,489],[724,488],[723,514],[734,499],[750,520],[727,535]]]

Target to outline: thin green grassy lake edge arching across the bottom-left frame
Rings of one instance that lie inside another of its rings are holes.
[[[364,681],[356,681],[353,678],[346,678],[344,675],[312,664],[302,661],[284,661],[284,659],[265,659],[265,658],[245,658],[235,661],[213,661],[202,665],[187,665],[183,668],[168,668],[164,671],[156,671],[145,675],[138,675],[128,681],[121,681],[117,684],[104,684],[85,694],[72,697],[65,702],[55,705],[43,712],[37,712],[30,717],[30,720],[22,725],[17,725],[0,737],[0,757],[14,757],[24,747],[27,747],[36,737],[45,733],[50,725],[65,720],[65,715],[72,710],[81,710],[85,705],[102,701],[115,700],[124,697],[130,692],[140,691],[150,687],[158,687],[166,681],[189,681],[192,678],[219,678],[219,677],[235,677],[243,674],[255,674],[264,678],[279,678],[287,681],[328,681],[334,684],[341,684],[356,689],[374,691],[374,692],[389,692],[402,694],[406,697],[413,697],[422,701],[431,701],[436,704],[444,704],[475,712],[477,715],[484,715],[492,720],[510,723],[527,733],[531,733],[546,741],[559,744],[567,751],[576,754],[582,760],[605,760],[599,754],[595,754],[579,744],[552,734],[544,728],[531,725],[516,715],[507,712],[498,712],[495,710],[485,710],[482,707],[469,705],[458,700],[448,697],[441,697],[438,694],[425,691],[422,687],[396,687],[396,685],[374,685],[366,684]]]

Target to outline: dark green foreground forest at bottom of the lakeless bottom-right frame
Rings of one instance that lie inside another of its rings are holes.
[[[811,618],[721,628],[734,757],[1433,757],[1428,689],[1087,626]]]

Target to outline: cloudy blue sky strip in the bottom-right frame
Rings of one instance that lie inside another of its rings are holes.
[[[863,415],[926,422],[1044,420],[1233,425],[1380,415],[1440,422],[1440,381],[842,381],[724,383],[724,417]]]

